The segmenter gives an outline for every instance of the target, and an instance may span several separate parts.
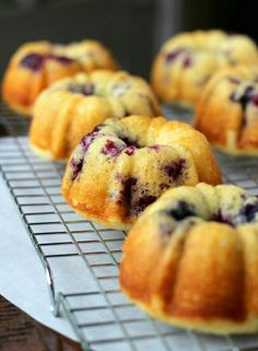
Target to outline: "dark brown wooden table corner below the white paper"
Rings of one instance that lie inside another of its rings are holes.
[[[82,351],[0,295],[0,351]]]

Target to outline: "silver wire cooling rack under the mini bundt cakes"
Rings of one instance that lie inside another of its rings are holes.
[[[172,108],[164,112],[172,117]],[[28,121],[0,107],[0,171],[44,265],[56,316],[62,311],[84,351],[257,351],[258,336],[215,337],[148,317],[120,292],[125,233],[75,214],[60,194],[63,164],[38,159]],[[189,120],[190,114],[181,114]],[[9,136],[9,137],[8,137]],[[258,160],[216,154],[224,180],[258,194]],[[78,272],[74,274],[74,272]],[[69,279],[68,279],[69,277]]]

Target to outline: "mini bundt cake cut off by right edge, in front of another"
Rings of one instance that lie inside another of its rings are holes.
[[[258,66],[218,71],[197,102],[195,127],[223,151],[258,155]]]

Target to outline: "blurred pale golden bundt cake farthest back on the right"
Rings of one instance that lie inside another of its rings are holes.
[[[236,63],[258,63],[257,47],[247,36],[222,31],[180,33],[157,54],[152,85],[160,98],[192,106],[219,68]]]

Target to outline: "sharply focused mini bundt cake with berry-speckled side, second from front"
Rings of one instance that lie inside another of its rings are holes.
[[[126,230],[167,188],[221,182],[210,145],[187,124],[163,117],[108,119],[73,151],[62,195],[79,213]]]

